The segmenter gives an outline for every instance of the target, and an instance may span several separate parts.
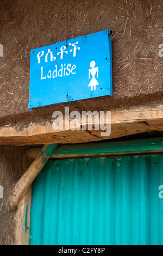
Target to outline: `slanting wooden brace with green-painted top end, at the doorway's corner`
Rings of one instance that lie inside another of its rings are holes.
[[[18,180],[10,197],[11,210],[16,208],[18,202],[20,202],[21,198],[27,192],[28,187],[32,184],[36,176],[41,172],[41,169],[43,166],[45,166],[49,157],[54,154],[54,151],[57,149],[57,147],[58,144],[44,145],[39,156],[36,157],[31,166],[23,174],[21,179]]]

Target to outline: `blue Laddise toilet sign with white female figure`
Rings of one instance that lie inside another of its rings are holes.
[[[112,96],[111,31],[30,52],[29,109]]]

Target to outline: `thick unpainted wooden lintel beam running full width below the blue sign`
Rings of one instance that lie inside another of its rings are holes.
[[[38,145],[52,143],[83,143],[119,138],[140,132],[163,131],[163,106],[155,108],[133,107],[127,111],[111,112],[111,134],[101,136],[101,130],[66,130],[54,131],[52,121],[46,124],[31,123],[23,130],[15,127],[0,127],[0,144],[2,145]],[[95,125],[95,121],[93,125]],[[22,125],[22,124],[21,124]],[[107,125],[106,117],[104,125]]]

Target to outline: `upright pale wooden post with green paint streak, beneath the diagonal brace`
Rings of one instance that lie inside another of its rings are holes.
[[[17,206],[15,245],[29,245],[31,201],[32,186],[28,188],[28,191],[24,194]]]

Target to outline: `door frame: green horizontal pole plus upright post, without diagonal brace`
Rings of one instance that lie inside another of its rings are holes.
[[[32,159],[38,155],[40,148],[30,148],[27,156]],[[96,142],[59,145],[51,156],[54,160],[84,157],[116,157],[125,155],[163,154],[163,138],[133,139],[129,141]],[[15,245],[29,245],[30,207],[32,203],[32,186],[17,206]]]

